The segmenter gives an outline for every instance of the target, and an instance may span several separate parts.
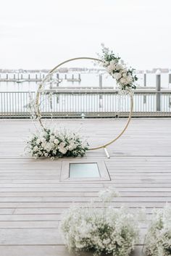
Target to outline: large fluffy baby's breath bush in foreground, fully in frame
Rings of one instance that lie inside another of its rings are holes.
[[[102,208],[71,207],[62,218],[61,231],[69,252],[91,251],[128,256],[138,241],[137,216],[125,207],[114,209],[109,202],[118,194],[114,189],[99,193]]]

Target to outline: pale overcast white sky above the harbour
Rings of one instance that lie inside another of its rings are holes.
[[[3,0],[0,68],[96,57],[103,42],[137,69],[171,68],[171,0]]]

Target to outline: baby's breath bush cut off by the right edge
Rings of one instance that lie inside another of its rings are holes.
[[[154,210],[145,244],[147,256],[171,255],[171,207],[168,205],[161,210]]]

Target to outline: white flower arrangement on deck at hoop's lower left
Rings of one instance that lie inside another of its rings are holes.
[[[83,157],[88,150],[88,143],[69,130],[52,131],[44,129],[37,131],[27,141],[25,152],[32,157]]]

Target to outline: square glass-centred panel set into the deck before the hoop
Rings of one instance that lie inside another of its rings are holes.
[[[63,161],[60,181],[110,181],[104,161]]]

